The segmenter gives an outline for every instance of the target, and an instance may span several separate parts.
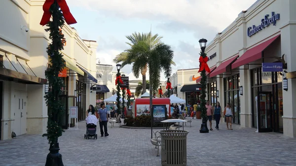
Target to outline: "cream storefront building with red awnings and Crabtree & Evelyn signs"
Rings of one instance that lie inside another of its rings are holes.
[[[296,137],[295,7],[258,0],[207,44],[208,99],[230,103],[233,123]]]

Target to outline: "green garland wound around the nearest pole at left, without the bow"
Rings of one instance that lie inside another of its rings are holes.
[[[65,113],[64,105],[59,100],[64,82],[61,77],[58,77],[59,72],[65,66],[65,61],[62,58],[63,55],[59,52],[59,50],[64,49],[63,45],[66,42],[64,34],[60,31],[65,21],[63,13],[56,3],[50,6],[49,11],[54,19],[47,23],[46,26],[48,28],[45,29],[46,32],[50,32],[49,38],[52,40],[46,51],[50,56],[50,63],[45,70],[45,77],[48,80],[48,86],[51,87],[51,90],[44,96],[48,107],[48,121],[47,133],[44,133],[42,136],[47,136],[48,143],[56,143],[58,137],[62,136],[62,133],[65,132],[59,123],[62,115]]]

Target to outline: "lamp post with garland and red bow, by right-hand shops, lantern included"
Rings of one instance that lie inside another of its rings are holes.
[[[201,76],[201,95],[200,95],[200,106],[201,106],[201,117],[202,117],[202,124],[199,130],[199,133],[209,133],[209,129],[207,126],[207,121],[208,121],[208,116],[207,116],[207,108],[206,108],[206,88],[207,88],[207,75],[206,71],[210,73],[210,68],[207,64],[208,62],[208,57],[207,54],[205,53],[206,49],[206,44],[207,44],[207,39],[200,39],[198,42],[200,44],[200,57],[199,57],[199,70],[198,72],[200,73]]]

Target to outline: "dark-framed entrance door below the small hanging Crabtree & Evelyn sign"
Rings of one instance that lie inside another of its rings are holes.
[[[257,100],[258,132],[272,132],[272,94],[271,92],[259,92]]]

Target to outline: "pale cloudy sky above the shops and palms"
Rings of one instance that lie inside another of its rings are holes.
[[[214,39],[242,10],[256,0],[68,0],[82,39],[96,40],[101,64],[115,65],[113,58],[128,48],[126,35],[134,32],[163,36],[172,46],[177,69],[197,68],[198,40]],[[115,67],[113,68],[115,70]],[[131,66],[122,68],[131,72]],[[162,80],[164,80],[162,76]]]

